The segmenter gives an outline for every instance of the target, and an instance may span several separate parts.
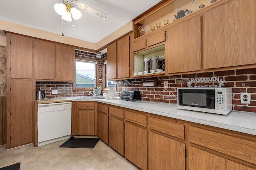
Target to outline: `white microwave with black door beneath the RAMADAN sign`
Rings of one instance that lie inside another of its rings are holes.
[[[178,109],[227,115],[232,110],[232,88],[178,88]]]

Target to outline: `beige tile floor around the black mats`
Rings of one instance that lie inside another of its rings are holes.
[[[94,149],[60,148],[66,140],[34,148],[0,146],[0,168],[21,162],[20,170],[139,170],[102,140]]]

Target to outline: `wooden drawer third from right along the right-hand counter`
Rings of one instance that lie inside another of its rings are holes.
[[[147,116],[139,113],[134,113],[132,111],[125,111],[125,119],[132,123],[147,127]]]

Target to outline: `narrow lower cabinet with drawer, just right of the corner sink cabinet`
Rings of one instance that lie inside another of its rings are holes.
[[[108,106],[98,104],[97,108],[97,136],[108,144]]]

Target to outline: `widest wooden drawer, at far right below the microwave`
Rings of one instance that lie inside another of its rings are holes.
[[[192,126],[189,127],[189,141],[256,164],[256,142]]]

